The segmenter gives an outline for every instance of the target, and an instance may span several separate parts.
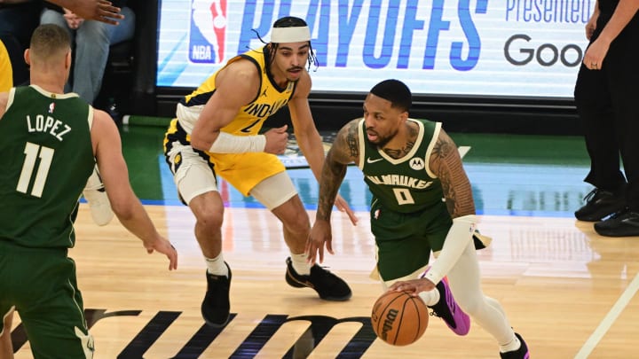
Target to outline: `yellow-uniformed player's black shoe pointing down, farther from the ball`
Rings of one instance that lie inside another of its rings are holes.
[[[204,322],[216,328],[225,326],[231,314],[231,302],[229,300],[231,267],[226,262],[225,265],[229,269],[228,277],[216,276],[207,271],[207,293],[201,305],[201,314]]]

